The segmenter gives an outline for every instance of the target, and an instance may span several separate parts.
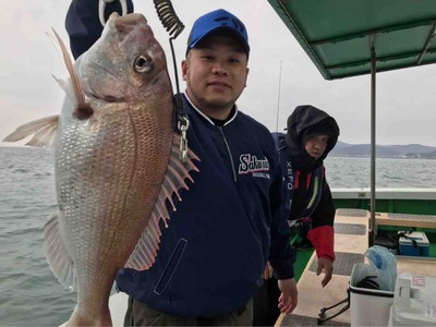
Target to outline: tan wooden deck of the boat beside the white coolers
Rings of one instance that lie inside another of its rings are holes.
[[[336,211],[335,253],[337,259],[334,264],[332,279],[325,288],[322,287],[323,276],[316,276],[316,272],[313,271],[316,269],[317,262],[314,253],[298,282],[299,304],[296,308],[290,315],[280,315],[275,326],[317,326],[323,307],[331,306],[347,299],[352,266],[358,262],[367,263],[364,253],[368,247],[368,218],[370,211],[367,210],[338,209]],[[362,226],[364,226],[363,231]],[[436,261],[397,256],[397,270],[399,274],[409,271],[434,276]],[[325,317],[334,315],[346,304],[326,311]],[[322,325],[350,326],[350,310]]]

